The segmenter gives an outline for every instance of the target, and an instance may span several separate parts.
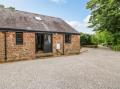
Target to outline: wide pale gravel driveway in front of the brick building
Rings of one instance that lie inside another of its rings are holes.
[[[0,89],[120,89],[120,53],[83,50],[88,51],[0,64]]]

